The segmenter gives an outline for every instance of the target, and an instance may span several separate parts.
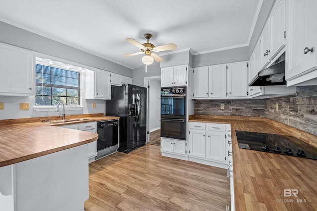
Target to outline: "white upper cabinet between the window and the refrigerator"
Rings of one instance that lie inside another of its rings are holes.
[[[104,70],[86,70],[86,99],[111,99],[110,73]]]

